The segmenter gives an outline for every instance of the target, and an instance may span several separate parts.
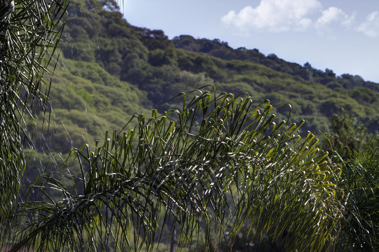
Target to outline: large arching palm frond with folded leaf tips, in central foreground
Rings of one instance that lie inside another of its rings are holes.
[[[285,249],[321,250],[341,215],[340,171],[318,139],[299,136],[302,123],[275,123],[269,101],[191,95],[181,111],[135,115],[135,128],[107,132],[103,145],[75,149],[62,170],[42,174],[13,250],[152,250],[165,227],[180,230],[179,248],[194,249],[243,223]]]

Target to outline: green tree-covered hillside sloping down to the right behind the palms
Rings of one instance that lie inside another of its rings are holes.
[[[330,118],[342,108],[370,132],[378,129],[376,83],[257,49],[233,49],[217,39],[169,40],[161,30],[129,24],[112,0],[72,0],[60,47],[50,135],[37,141],[39,151],[67,152],[94,143],[105,130],[122,129],[133,114],[164,112],[174,104],[161,103],[208,84],[218,92],[247,92],[257,104],[266,99],[291,104],[292,121],[304,119],[310,131],[328,131]],[[288,105],[277,107],[278,120],[287,119],[288,111]]]

